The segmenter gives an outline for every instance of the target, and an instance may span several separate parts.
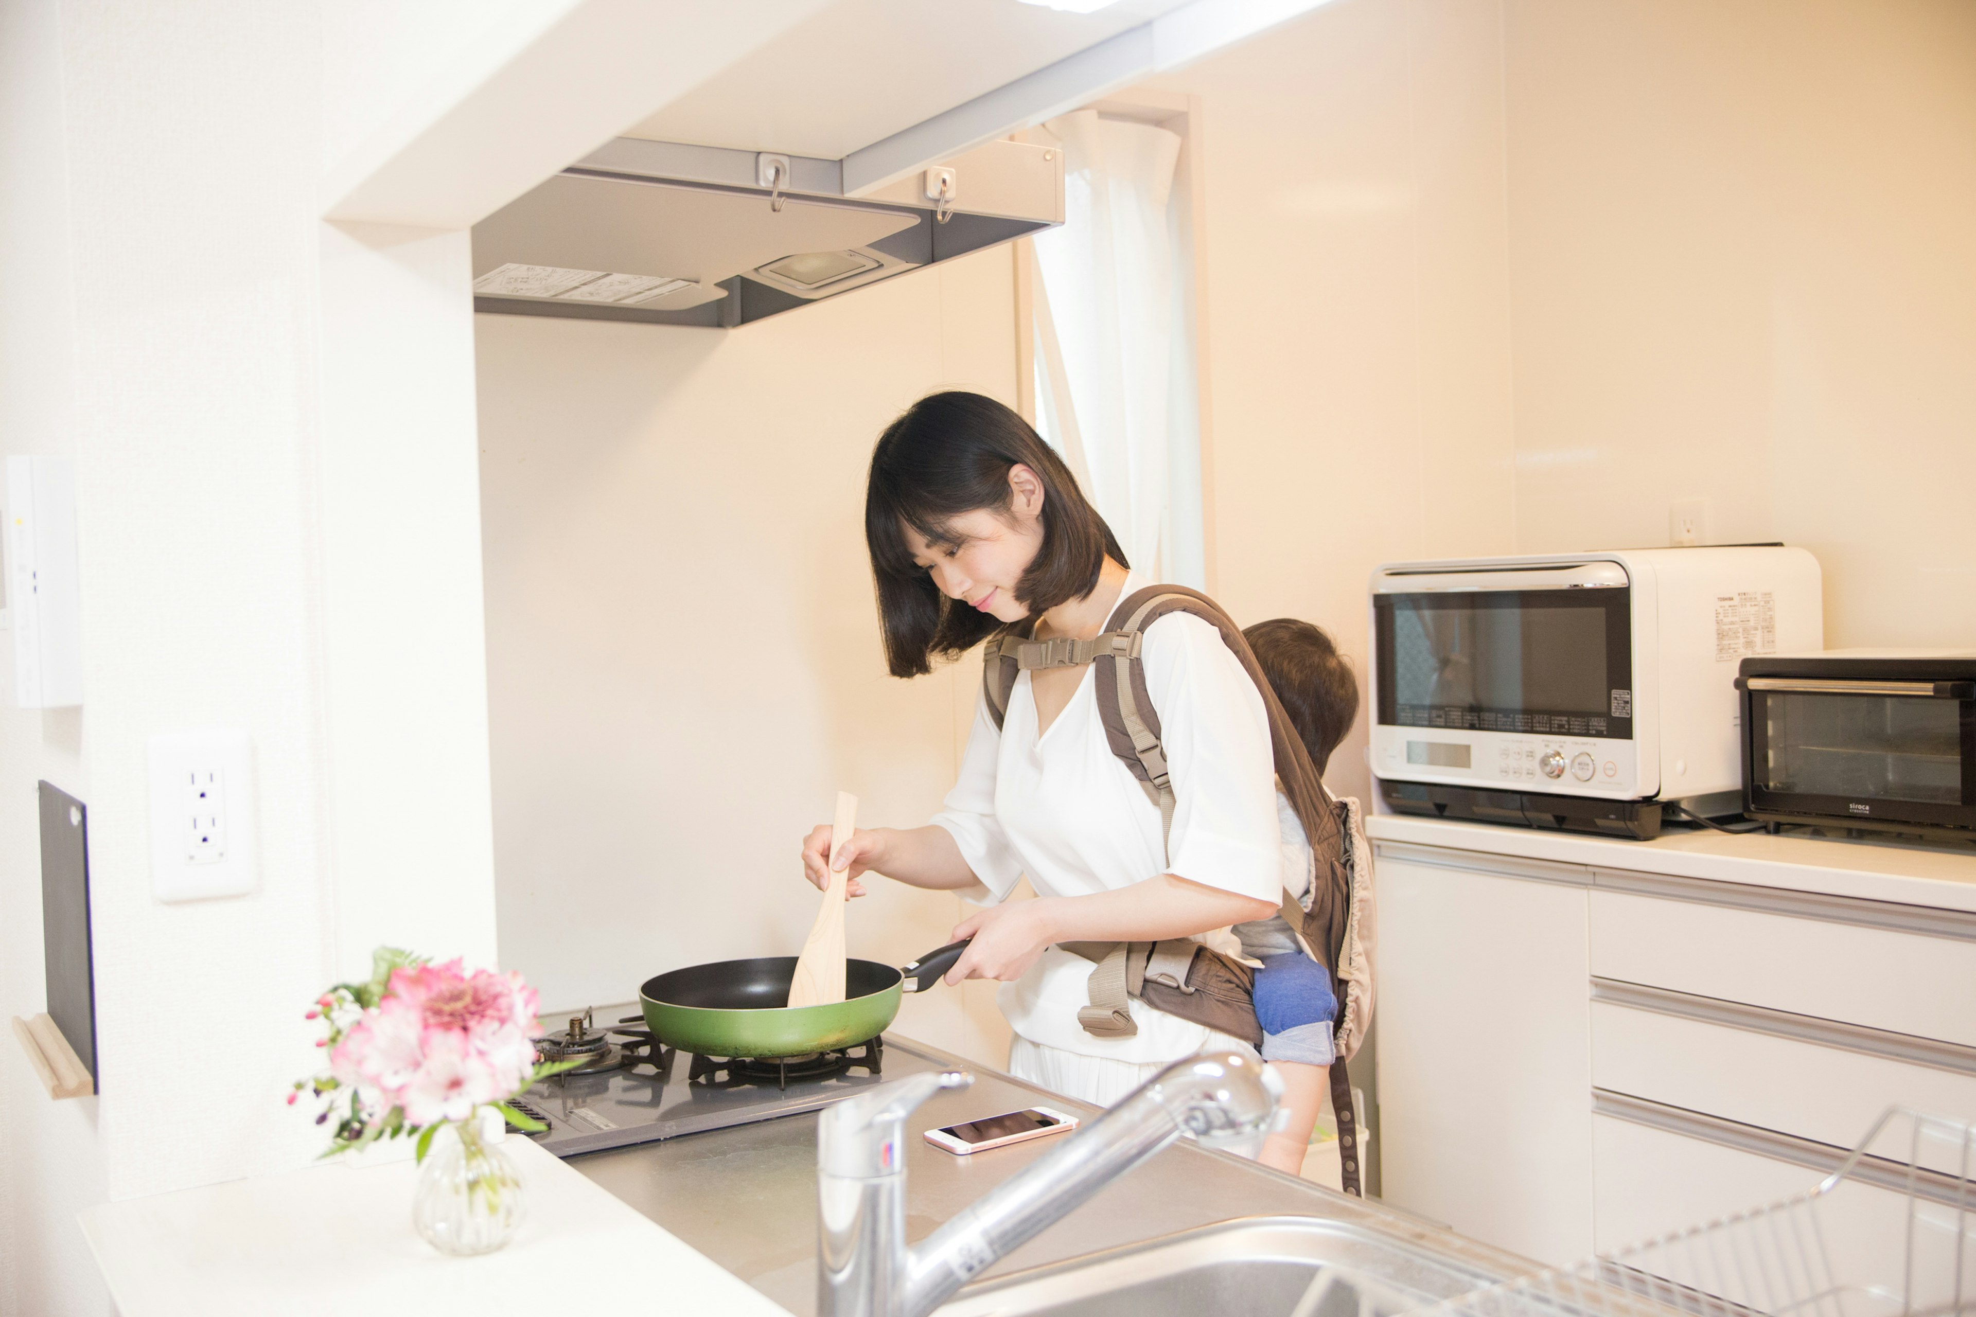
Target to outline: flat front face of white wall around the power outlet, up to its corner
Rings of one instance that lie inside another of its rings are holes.
[[[314,1064],[296,1003],[326,969],[300,515],[314,158],[290,150],[314,134],[314,83],[296,85],[312,32],[255,6],[211,26],[87,4],[8,16],[24,71],[8,85],[34,103],[4,128],[0,444],[77,460],[87,703],[4,719],[4,1013],[43,1005],[45,774],[91,806],[103,1096],[47,1102],[8,1045],[6,1303],[101,1313],[75,1208],[296,1165],[316,1141],[281,1104]],[[255,736],[263,885],[160,906],[144,742],[202,725]]]

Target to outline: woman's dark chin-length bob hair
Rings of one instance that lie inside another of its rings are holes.
[[[1008,472],[1018,462],[1043,482],[1043,543],[1016,582],[1016,602],[1031,618],[1095,590],[1107,555],[1130,567],[1071,468],[1028,421],[980,393],[923,397],[877,436],[865,484],[865,545],[891,675],[929,673],[935,658],[958,658],[1002,628],[941,594],[913,563],[905,527],[929,545],[958,547],[954,517],[986,509],[1008,519]]]

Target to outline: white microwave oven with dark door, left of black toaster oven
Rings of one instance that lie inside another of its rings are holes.
[[[1737,663],[1824,644],[1804,549],[1389,563],[1371,577],[1385,810],[1654,837],[1743,802]]]

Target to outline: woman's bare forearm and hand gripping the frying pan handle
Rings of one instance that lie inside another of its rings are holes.
[[[1172,873],[1089,896],[1018,900],[954,926],[954,942],[974,942],[947,971],[947,981],[1020,979],[1051,942],[1162,942],[1275,912],[1267,900]]]

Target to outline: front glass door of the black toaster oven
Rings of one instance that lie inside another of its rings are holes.
[[[1976,701],[1761,681],[1749,691],[1755,810],[1976,827]]]

